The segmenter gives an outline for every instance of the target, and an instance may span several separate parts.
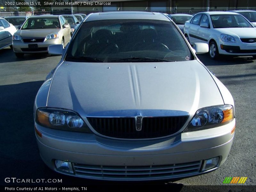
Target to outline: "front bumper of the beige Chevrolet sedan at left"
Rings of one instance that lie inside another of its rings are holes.
[[[61,44],[62,39],[44,39],[44,42],[24,43],[23,40],[12,40],[13,51],[17,53],[48,53],[48,46],[52,44]],[[29,44],[37,44],[38,49],[28,48]]]

